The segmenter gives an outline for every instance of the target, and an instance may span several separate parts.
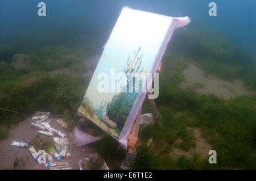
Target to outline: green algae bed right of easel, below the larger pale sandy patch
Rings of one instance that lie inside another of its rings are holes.
[[[256,97],[241,95],[226,100],[182,90],[179,83],[183,81],[184,68],[183,62],[173,58],[172,64],[164,66],[159,80],[159,98],[156,99],[163,127],[156,129],[148,125],[139,133],[142,145],[138,147],[134,168],[255,169]],[[177,77],[180,77],[178,81]],[[177,111],[183,114],[177,117]],[[210,165],[208,160],[196,155],[192,158],[181,156],[176,161],[168,155],[178,138],[185,140],[184,145],[179,145],[183,150],[195,145],[186,127],[201,128],[203,136],[217,150],[217,165]],[[146,140],[150,137],[153,141],[147,147]]]

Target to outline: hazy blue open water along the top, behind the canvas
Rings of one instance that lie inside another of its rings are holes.
[[[46,3],[46,16],[38,16],[39,2]],[[210,2],[217,4],[215,17],[208,15]],[[0,45],[20,40],[23,44],[30,40],[42,43],[42,39],[46,44],[67,43],[77,35],[89,35],[104,43],[124,6],[169,16],[189,16],[187,31],[200,32],[207,27],[228,36],[241,49],[255,49],[256,1],[249,0],[0,0]],[[77,39],[73,43],[84,41]]]

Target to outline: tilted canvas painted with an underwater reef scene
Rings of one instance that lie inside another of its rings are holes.
[[[173,22],[170,16],[124,8],[113,28],[80,113],[115,139],[134,121],[127,123],[136,112],[132,110],[140,108],[135,106],[143,102],[138,97],[146,92],[148,74],[158,67],[175,29]]]

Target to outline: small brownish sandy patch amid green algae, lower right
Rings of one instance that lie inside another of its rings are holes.
[[[196,141],[196,147],[195,148],[191,148],[188,151],[183,151],[179,148],[173,148],[169,155],[174,158],[177,159],[179,158],[181,155],[184,155],[185,157],[188,158],[192,158],[193,154],[199,154],[201,159],[207,159],[209,157],[208,152],[209,150],[212,150],[212,146],[208,144],[208,142],[201,137],[201,131],[199,128],[191,128],[191,127],[187,127],[188,131],[193,132],[193,136],[195,137],[195,141]],[[174,145],[180,144],[182,142],[181,139],[178,139],[175,141]]]

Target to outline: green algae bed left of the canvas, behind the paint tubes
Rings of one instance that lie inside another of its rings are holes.
[[[51,78],[43,73],[6,82],[1,86],[6,96],[1,97],[0,107],[15,112],[1,111],[0,124],[10,127],[36,110],[51,110],[52,113],[61,114],[64,108],[68,108],[73,115],[81,103],[85,89],[82,85],[85,82],[84,78],[67,75]]]

